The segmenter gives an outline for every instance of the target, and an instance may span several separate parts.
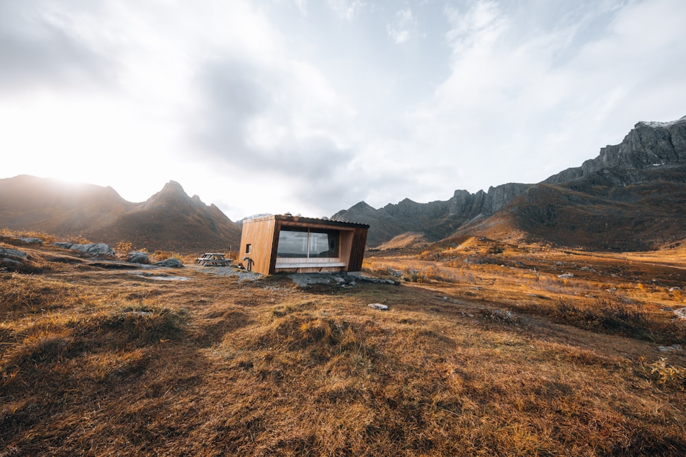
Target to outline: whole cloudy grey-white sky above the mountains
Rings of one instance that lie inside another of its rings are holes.
[[[539,182],[686,114],[683,0],[0,0],[0,177],[228,217]]]

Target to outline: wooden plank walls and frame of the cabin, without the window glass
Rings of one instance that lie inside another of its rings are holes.
[[[246,266],[245,257],[252,259],[252,271],[270,275],[277,271],[276,251],[279,245],[279,233],[281,230],[336,230],[338,231],[338,258],[335,266],[324,266],[312,260],[312,265],[303,262],[302,267],[279,268],[279,271],[292,271],[300,273],[330,272],[330,271],[362,271],[362,259],[364,258],[365,243],[369,225],[328,221],[324,219],[311,219],[297,216],[277,214],[272,216],[248,219],[243,223],[241,235],[241,251],[239,262]],[[250,245],[250,254],[246,252]],[[340,266],[341,262],[343,266]]]

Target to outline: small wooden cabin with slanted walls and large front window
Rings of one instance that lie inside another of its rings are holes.
[[[369,225],[289,214],[246,219],[239,262],[249,271],[359,274]]]

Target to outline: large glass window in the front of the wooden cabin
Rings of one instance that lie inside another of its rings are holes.
[[[276,257],[338,257],[335,230],[281,230]]]

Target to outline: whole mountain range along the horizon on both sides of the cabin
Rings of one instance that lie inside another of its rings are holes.
[[[686,240],[686,116],[639,122],[619,145],[538,184],[509,183],[445,201],[360,201],[331,219],[370,225],[370,247],[412,247],[464,235],[638,251]],[[0,180],[0,227],[181,252],[237,246],[240,223],[170,181],[131,203],[110,187],[20,175]]]

